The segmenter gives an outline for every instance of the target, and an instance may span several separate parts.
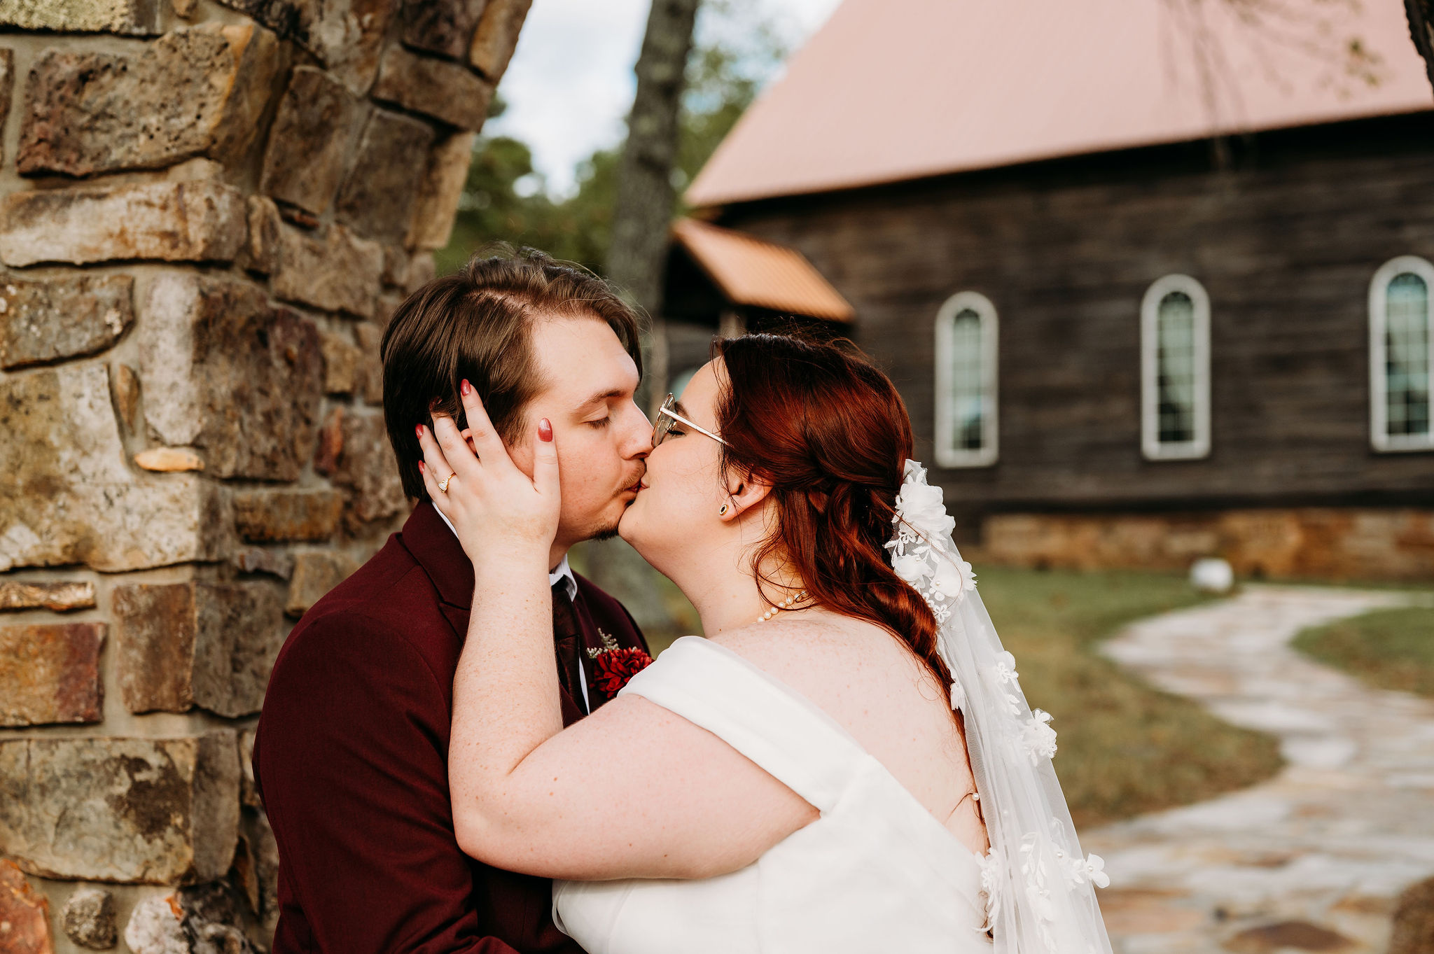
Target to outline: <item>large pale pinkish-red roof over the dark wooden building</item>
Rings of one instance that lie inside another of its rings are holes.
[[[1431,107],[1397,0],[845,0],[687,201]]]

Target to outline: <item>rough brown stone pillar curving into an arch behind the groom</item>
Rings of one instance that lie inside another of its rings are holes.
[[[0,3],[0,950],[268,947],[252,728],[529,1]]]

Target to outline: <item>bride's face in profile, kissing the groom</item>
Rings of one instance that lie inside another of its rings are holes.
[[[717,433],[717,362],[708,361],[683,390],[674,408],[693,424]],[[673,421],[673,430],[647,457],[647,476],[618,533],[658,570],[667,572],[680,551],[723,533],[718,510],[727,503],[721,476],[721,445],[711,437]]]

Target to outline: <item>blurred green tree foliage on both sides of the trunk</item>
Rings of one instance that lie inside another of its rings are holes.
[[[673,170],[678,191],[703,168],[786,53],[774,26],[756,14],[754,0],[706,0],[687,63],[681,140]],[[502,110],[502,99],[495,97],[489,117]],[[493,242],[531,245],[601,271],[621,155],[621,142],[594,152],[578,166],[574,193],[554,198],[533,170],[526,143],[509,136],[480,136],[473,146],[453,238],[437,252],[439,272],[459,268]],[[674,215],[681,211],[678,198]]]

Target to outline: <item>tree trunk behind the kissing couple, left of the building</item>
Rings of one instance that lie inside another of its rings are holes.
[[[698,1],[652,0],[637,60],[637,96],[628,116],[627,146],[618,166],[607,276],[652,317],[644,348],[645,404],[654,398],[660,401],[667,392],[663,268],[677,198],[673,169],[677,165],[683,77]],[[652,635],[667,635],[674,627],[658,589],[657,572],[632,547],[622,540],[607,540],[588,543],[585,550],[588,574],[622,600],[638,626]]]

